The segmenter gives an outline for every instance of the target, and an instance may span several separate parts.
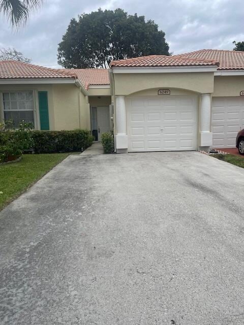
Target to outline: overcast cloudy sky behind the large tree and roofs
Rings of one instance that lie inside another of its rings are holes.
[[[58,68],[57,44],[70,19],[99,7],[122,8],[154,20],[174,54],[233,49],[233,41],[244,41],[243,0],[46,0],[19,31],[0,16],[0,47],[14,47],[35,64]]]

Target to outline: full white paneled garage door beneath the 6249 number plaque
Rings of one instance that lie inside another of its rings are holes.
[[[129,152],[196,150],[194,96],[127,98]]]

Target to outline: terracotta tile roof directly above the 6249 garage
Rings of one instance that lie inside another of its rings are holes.
[[[209,58],[188,58],[180,55],[148,55],[112,61],[110,65],[111,67],[191,67],[218,66],[218,62]]]

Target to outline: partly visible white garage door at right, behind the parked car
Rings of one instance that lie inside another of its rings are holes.
[[[233,148],[244,125],[244,98],[212,98],[212,144],[215,148]]]

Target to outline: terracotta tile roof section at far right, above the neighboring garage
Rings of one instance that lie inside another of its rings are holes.
[[[199,50],[180,54],[182,57],[195,59],[212,59],[218,61],[218,70],[242,70],[244,69],[244,52],[229,50]]]

